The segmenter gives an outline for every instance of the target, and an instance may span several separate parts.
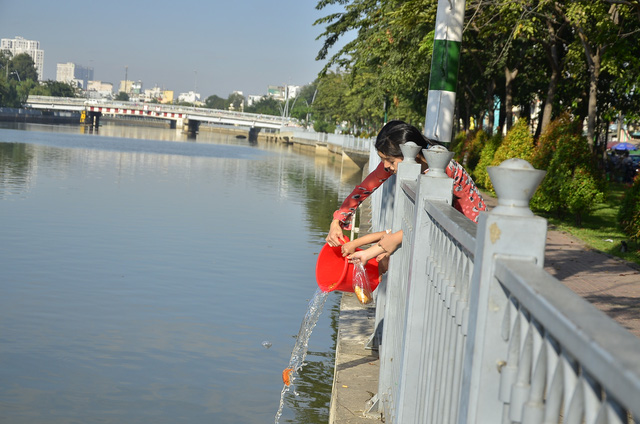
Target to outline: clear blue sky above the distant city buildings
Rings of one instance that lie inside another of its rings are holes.
[[[266,94],[268,85],[305,85],[315,57],[317,0],[0,0],[0,38],[40,42],[44,79],[56,64],[94,69],[117,90],[125,78],[206,99]]]

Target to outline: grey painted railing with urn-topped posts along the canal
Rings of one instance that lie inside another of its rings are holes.
[[[377,294],[372,409],[402,424],[640,417],[640,340],[543,269],[547,223],[528,209],[540,171],[490,168],[499,204],[476,225],[430,168],[402,162],[381,202],[403,242]]]

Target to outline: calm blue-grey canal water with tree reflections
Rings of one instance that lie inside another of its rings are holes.
[[[276,143],[0,127],[0,422],[273,422],[361,174]],[[326,423],[330,294],[281,423]]]

